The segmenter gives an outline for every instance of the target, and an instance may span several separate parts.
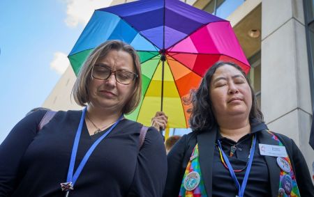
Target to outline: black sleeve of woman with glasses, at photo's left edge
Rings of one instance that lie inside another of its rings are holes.
[[[0,196],[9,196],[25,150],[36,136],[37,126],[47,111],[36,111],[20,120],[0,145]]]

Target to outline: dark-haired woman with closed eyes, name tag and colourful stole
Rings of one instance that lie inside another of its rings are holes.
[[[190,127],[167,155],[164,196],[314,196],[292,139],[270,132],[246,74],[214,64],[191,94]]]

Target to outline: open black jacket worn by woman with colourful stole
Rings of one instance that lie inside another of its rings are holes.
[[[292,168],[294,168],[294,174],[297,178],[301,196],[314,196],[311,175],[301,151],[292,139],[282,134],[276,134],[276,136],[278,136],[286,147],[287,154],[292,162]],[[266,130],[258,132],[257,139],[260,143],[278,145],[278,142],[272,139],[271,134]],[[213,166],[212,161],[214,158],[215,140],[216,129],[212,129],[211,131],[191,132],[190,134],[186,134],[180,141],[178,141],[178,143],[176,143],[176,145],[174,145],[174,148],[172,148],[167,156],[168,174],[163,196],[178,196],[181,182],[184,177],[184,171],[186,170],[190,155],[196,143],[198,143],[199,147],[200,168],[204,180],[204,187],[207,191],[207,196],[212,196],[213,168],[207,166]],[[206,157],[202,157],[202,152],[206,152]],[[281,169],[277,165],[276,157],[264,156],[264,158],[269,170],[269,183],[271,186],[270,196],[277,197]]]

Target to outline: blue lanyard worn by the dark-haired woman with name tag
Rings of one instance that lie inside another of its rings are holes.
[[[246,189],[246,183],[248,182],[248,174],[250,174],[251,171],[251,166],[252,166],[252,162],[253,162],[253,157],[254,157],[254,152],[255,152],[255,143],[256,143],[256,134],[253,136],[253,144],[250,150],[250,155],[248,157],[250,157],[248,159],[248,168],[246,168],[246,173],[244,175],[244,180],[242,182],[242,185],[240,186],[239,181],[237,179],[237,176],[234,174],[233,168],[230,164],[230,161],[227,157],[227,155],[225,155],[225,152],[223,151],[223,148],[221,148],[221,144],[220,141],[218,140],[218,145],[219,148],[221,150],[221,152],[223,153],[223,159],[225,159],[225,163],[228,166],[230,175],[232,177],[232,179],[234,180],[234,183],[236,184],[236,187],[238,189],[238,196],[239,197],[243,197],[244,196],[244,190]]]

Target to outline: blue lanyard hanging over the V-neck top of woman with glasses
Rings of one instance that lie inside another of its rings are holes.
[[[68,177],[66,178],[66,181],[67,182],[72,182],[72,185],[75,184],[77,178],[79,177],[80,173],[82,172],[82,169],[84,168],[85,164],[87,163],[87,160],[89,159],[89,156],[91,156],[91,153],[94,151],[96,146],[100,143],[100,141],[102,141],[105,138],[105,136],[110,134],[112,129],[114,129],[114,127],[116,127],[116,125],[124,117],[123,115],[121,115],[120,118],[116,121],[116,123],[114,123],[114,125],[112,125],[110,127],[110,129],[107,132],[105,132],[105,134],[100,136],[100,138],[97,141],[95,141],[93,143],[93,145],[91,145],[91,148],[89,148],[87,153],[84,155],[82,161],[80,162],[80,165],[77,167],[77,169],[75,171],[75,174],[73,175],[74,164],[75,164],[76,153],[77,153],[77,147],[78,147],[78,144],[79,144],[79,141],[80,141],[80,136],[81,136],[81,133],[82,133],[82,127],[83,127],[83,123],[84,123],[84,117],[85,117],[86,109],[87,108],[85,107],[83,109],[83,111],[82,111],[80,124],[79,124],[79,127],[77,128],[77,132],[76,132],[76,136],[75,136],[75,140],[74,140],[74,144],[73,144],[73,149],[72,149],[72,154],[71,154],[71,159],[70,159],[70,166],[68,167]]]

